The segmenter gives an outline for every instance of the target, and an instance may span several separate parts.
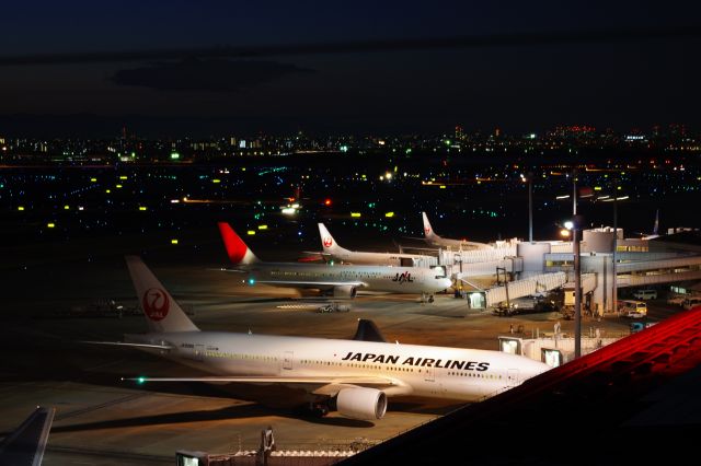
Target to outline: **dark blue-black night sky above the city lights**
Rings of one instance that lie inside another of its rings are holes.
[[[450,131],[458,124],[513,132],[560,124],[701,129],[699,13],[701,5],[689,1],[7,2],[2,58],[464,36],[486,44],[3,66],[0,135],[31,132],[37,116],[46,123],[47,115],[76,114],[111,123],[141,118],[141,129],[154,135],[198,125],[335,132]],[[681,27],[696,27],[696,36],[558,39],[559,33]],[[504,34],[543,33],[554,38],[490,45]]]

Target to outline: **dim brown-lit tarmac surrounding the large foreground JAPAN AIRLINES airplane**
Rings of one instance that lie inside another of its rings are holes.
[[[203,330],[352,338],[357,319],[370,318],[389,341],[496,350],[497,337],[512,325],[522,326],[530,337],[537,329],[552,331],[560,319],[558,313],[496,317],[468,308],[466,300],[452,294],[439,294],[430,304],[413,295],[360,295],[349,312],[318,313],[307,306],[312,299],[288,289],[249,287],[235,273],[212,270],[206,254],[203,260],[193,256],[157,251],[145,260],[173,296],[192,307]],[[136,350],[80,343],[120,340],[124,333],[145,331],[146,324],[141,316],[55,316],[58,310],[99,299],[136,304],[119,254],[70,257],[76,258],[37,257],[26,268],[10,260],[2,270],[7,333],[0,343],[0,432],[19,426],[37,405],[56,407],[45,465],[172,464],[177,450],[252,450],[266,426],[274,428],[279,448],[372,443],[460,406],[391,398],[387,416],[368,422],[335,412],[325,418],[298,415],[286,406],[295,398],[289,389],[123,382],[123,376],[197,374]],[[572,322],[561,324],[563,331],[572,331]],[[628,322],[616,318],[585,318],[583,330],[589,325],[611,333],[628,329]]]

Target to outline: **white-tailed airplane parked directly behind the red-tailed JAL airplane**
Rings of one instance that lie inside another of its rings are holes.
[[[323,255],[341,263],[402,267],[428,267],[438,264],[436,256],[404,253],[369,253],[341,247],[323,223],[319,223]]]

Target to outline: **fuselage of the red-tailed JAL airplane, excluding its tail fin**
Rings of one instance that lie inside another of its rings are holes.
[[[251,284],[260,281],[327,290],[347,283],[370,291],[432,294],[452,284],[443,268],[296,263],[255,263],[242,268],[248,271]]]

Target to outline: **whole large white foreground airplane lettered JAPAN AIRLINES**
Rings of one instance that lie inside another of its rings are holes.
[[[370,322],[353,340],[200,331],[137,256],[127,267],[149,333],[125,335],[134,347],[215,374],[204,377],[135,377],[146,382],[284,384],[303,388],[309,407],[381,419],[388,397],[412,395],[478,401],[550,369],[499,351],[389,343]]]

